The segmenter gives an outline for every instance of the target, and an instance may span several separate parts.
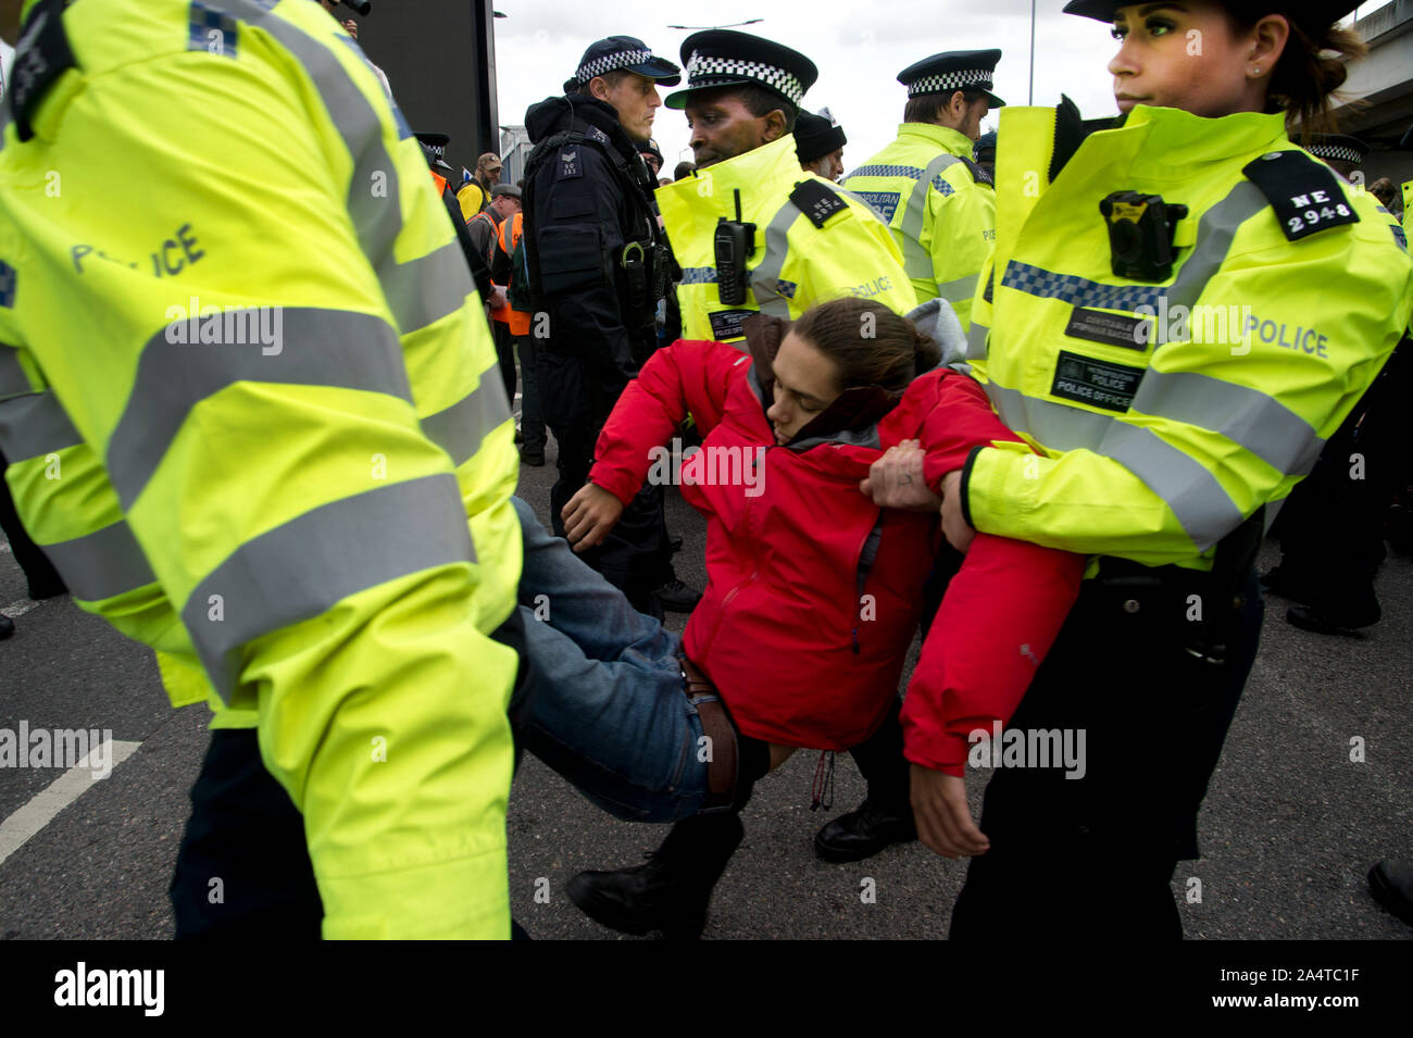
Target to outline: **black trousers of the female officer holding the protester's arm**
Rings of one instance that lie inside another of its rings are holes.
[[[971,860],[952,939],[1181,938],[1169,884],[1178,860],[1198,856],[1197,812],[1260,637],[1255,573],[1245,587],[1214,665],[1186,648],[1181,590],[1087,582],[1010,722],[1084,730],[1084,775],[993,772],[981,819],[991,850]]]

